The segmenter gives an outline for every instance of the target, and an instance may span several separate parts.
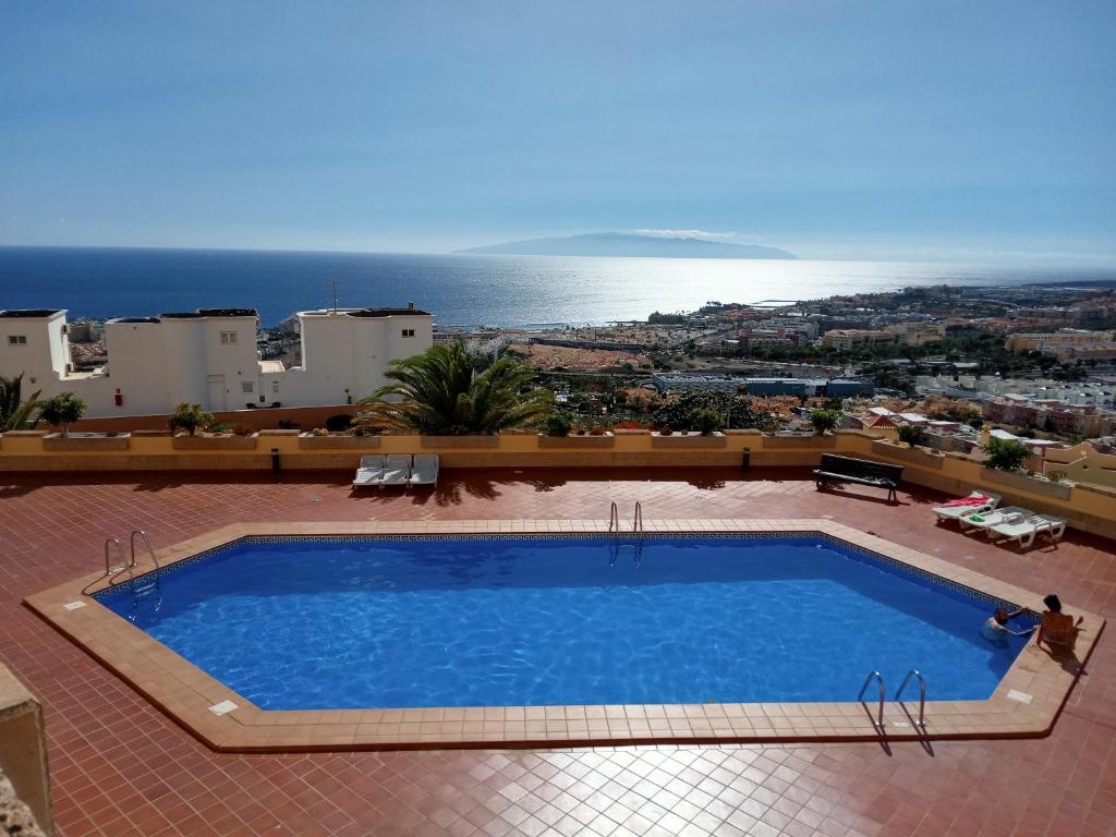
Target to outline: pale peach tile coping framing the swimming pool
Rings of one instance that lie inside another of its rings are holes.
[[[607,530],[607,523],[600,520],[242,523],[162,549],[158,559],[163,567],[171,567],[242,538],[568,537],[606,535]],[[830,520],[647,520],[645,531],[706,536],[817,533],[969,595],[990,602],[1018,603],[1032,609],[1042,606],[1035,593]],[[150,560],[142,559],[136,573],[153,569]],[[855,702],[266,711],[87,595],[95,595],[108,586],[107,579],[93,574],[30,596],[26,603],[184,729],[221,751],[865,741],[881,738],[872,724],[876,705]],[[88,606],[73,607],[75,602]],[[1054,658],[1031,641],[989,700],[929,701],[925,733],[913,724],[917,718],[916,703],[908,702],[904,706],[888,702],[884,709],[883,737],[897,741],[1047,734],[1105,626],[1104,619],[1095,614],[1069,609],[1085,618],[1074,658]]]

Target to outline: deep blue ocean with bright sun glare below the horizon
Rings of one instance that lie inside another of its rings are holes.
[[[413,300],[454,326],[600,325],[706,301],[818,299],[907,286],[1112,280],[1116,271],[869,261],[423,256],[0,247],[0,309],[70,318],[256,308],[264,326],[297,310]]]

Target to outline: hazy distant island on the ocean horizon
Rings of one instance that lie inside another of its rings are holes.
[[[797,259],[773,247],[730,244],[695,238],[641,235],[636,232],[588,232],[555,239],[508,241],[471,247],[459,253],[491,256],[627,256],[660,259]]]

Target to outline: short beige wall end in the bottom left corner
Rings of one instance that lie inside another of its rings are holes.
[[[0,665],[0,779],[3,777],[11,782],[15,796],[0,788],[0,814],[6,815],[0,819],[0,831],[8,834],[4,822],[9,827],[25,825],[22,802],[39,828],[54,834],[42,706],[16,675]],[[20,834],[33,837],[36,831],[23,827]]]

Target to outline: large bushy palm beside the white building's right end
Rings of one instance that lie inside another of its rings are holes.
[[[535,374],[523,364],[501,358],[479,372],[481,365],[460,338],[392,360],[386,375],[395,383],[358,402],[362,423],[427,435],[488,435],[536,424],[549,413],[548,389],[525,392]]]

